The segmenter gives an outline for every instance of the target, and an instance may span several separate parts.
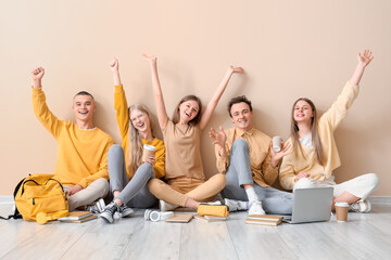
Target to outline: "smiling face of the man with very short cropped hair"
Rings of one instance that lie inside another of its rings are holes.
[[[76,120],[92,122],[92,115],[96,110],[96,105],[90,95],[76,95],[74,98],[72,109],[75,113]]]

